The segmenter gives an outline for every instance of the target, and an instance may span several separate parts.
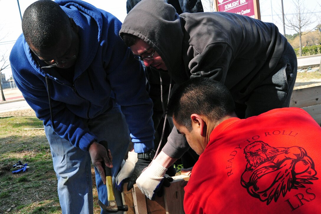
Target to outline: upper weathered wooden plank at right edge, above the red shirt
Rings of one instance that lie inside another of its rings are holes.
[[[293,90],[290,107],[307,107],[321,104],[321,85]]]

